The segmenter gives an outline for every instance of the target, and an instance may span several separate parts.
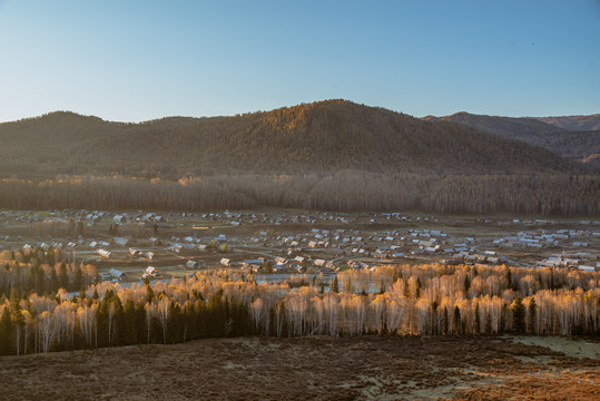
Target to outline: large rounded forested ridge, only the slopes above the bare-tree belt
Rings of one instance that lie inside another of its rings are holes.
[[[236,117],[171,117],[141,124],[52,113],[1,124],[0,140],[4,176],[178,178],[343,169],[520,174],[580,168],[548,150],[453,121],[420,120],[343,100]]]

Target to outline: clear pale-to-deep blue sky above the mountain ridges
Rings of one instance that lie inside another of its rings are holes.
[[[600,113],[600,0],[0,0],[0,120]]]

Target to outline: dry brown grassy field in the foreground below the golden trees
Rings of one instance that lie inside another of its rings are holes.
[[[217,339],[0,358],[1,400],[599,400],[600,343]]]

